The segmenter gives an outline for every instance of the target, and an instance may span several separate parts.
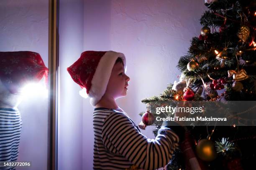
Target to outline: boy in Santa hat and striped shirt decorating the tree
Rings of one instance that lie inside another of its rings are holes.
[[[154,170],[168,164],[184,130],[163,126],[155,139],[148,139],[118,107],[115,100],[126,95],[130,80],[123,53],[85,51],[67,70],[95,107],[94,170]]]

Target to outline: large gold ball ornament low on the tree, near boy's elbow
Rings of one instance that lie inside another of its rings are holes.
[[[208,139],[199,140],[196,146],[197,156],[204,161],[212,161],[217,158],[214,142]]]

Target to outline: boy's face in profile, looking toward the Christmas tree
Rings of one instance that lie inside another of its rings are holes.
[[[123,64],[121,62],[116,63],[112,69],[105,95],[114,99],[124,97],[128,90],[129,80],[130,77],[125,75]]]

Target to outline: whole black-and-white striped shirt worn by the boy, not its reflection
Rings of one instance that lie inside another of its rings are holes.
[[[145,170],[161,168],[179,143],[179,137],[164,127],[155,139],[148,139],[127,115],[103,107],[95,108],[93,129],[94,170],[123,170],[132,165]]]

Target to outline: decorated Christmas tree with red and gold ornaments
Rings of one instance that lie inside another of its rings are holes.
[[[187,54],[180,57],[177,64],[182,72],[179,82],[170,83],[158,96],[142,100],[151,112],[140,113],[144,120],[139,125],[141,129],[146,128],[145,117],[156,116],[152,108],[163,106],[164,102],[176,105],[177,101],[185,100],[213,103],[256,100],[256,1],[205,0],[205,5],[208,10],[200,18],[201,34],[192,37]],[[256,114],[255,110],[256,105],[250,105],[236,119],[242,121],[243,114]],[[221,110],[216,114],[218,112]],[[186,126],[187,142],[202,165],[201,169],[247,170],[255,167],[256,120],[244,121],[250,121],[251,126]],[[162,122],[153,125],[156,135]],[[204,153],[207,147],[210,148],[208,155]],[[181,147],[174,152],[167,169],[195,168],[188,165]]]

